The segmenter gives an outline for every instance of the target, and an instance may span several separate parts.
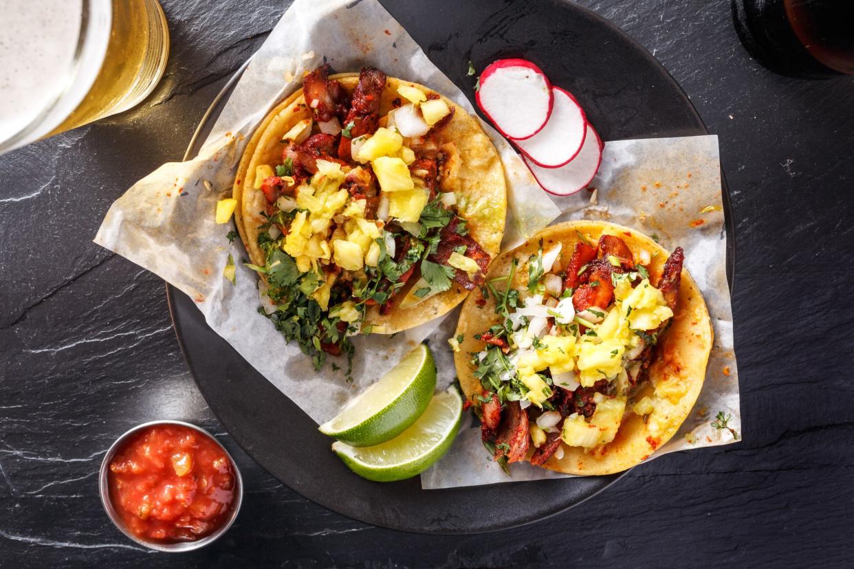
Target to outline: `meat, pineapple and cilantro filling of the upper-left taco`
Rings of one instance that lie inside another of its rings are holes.
[[[454,283],[472,290],[491,260],[458,209],[459,152],[442,136],[456,109],[394,84],[381,116],[390,85],[372,67],[350,90],[328,66],[307,73],[306,118],[280,136],[278,161],[246,173],[266,203],[265,262],[250,266],[276,305],[267,316],[318,369],[325,354],[352,356],[348,335],[387,332],[363,326],[368,311],[418,305]]]

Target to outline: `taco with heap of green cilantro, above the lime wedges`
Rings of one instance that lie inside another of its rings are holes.
[[[483,284],[506,184],[477,119],[375,68],[319,67],[255,131],[236,223],[277,309],[319,367],[348,335],[428,322]]]

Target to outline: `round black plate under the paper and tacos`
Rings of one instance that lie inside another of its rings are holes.
[[[467,61],[483,69],[524,57],[572,91],[603,140],[708,132],[679,85],[652,55],[593,12],[570,2],[384,0],[436,66],[472,100]],[[239,70],[205,115],[195,156]],[[728,274],[734,260],[729,226]],[[730,279],[730,282],[732,280]],[[377,484],[351,473],[330,440],[282,392],[208,328],[193,301],[167,286],[178,343],[211,409],[260,466],[293,490],[356,520],[422,533],[493,531],[541,520],[594,496],[621,475],[422,491],[418,478]],[[485,458],[484,458],[485,460]]]

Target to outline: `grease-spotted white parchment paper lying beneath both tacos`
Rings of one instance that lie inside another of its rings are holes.
[[[258,314],[259,305],[264,304],[257,290],[258,278],[242,264],[246,253],[240,240],[229,243],[226,239],[232,225],[215,224],[213,212],[216,201],[231,194],[237,163],[255,125],[276,102],[299,88],[304,71],[324,61],[342,72],[355,71],[363,65],[379,67],[389,76],[406,78],[438,90],[473,113],[463,93],[427,59],[418,44],[376,0],[350,3],[296,0],[253,56],[199,156],[184,163],[162,165],[134,184],[110,207],[95,237],[95,242],[102,247],[151,270],[195,299],[208,325],[318,422],[336,415],[348,398],[377,380],[412,346],[424,339],[430,343],[437,358],[439,386],[448,386],[455,372],[446,340],[456,325],[456,312],[452,312],[450,317],[394,337],[371,334],[354,338],[357,351],[354,381],[348,383],[343,371],[335,371],[329,364],[315,372],[298,346],[285,345],[284,337],[272,323]],[[465,61],[461,60],[460,65],[464,64]],[[524,241],[551,223],[562,211],[573,218],[582,217],[588,206],[588,193],[561,198],[556,205],[535,183],[510,145],[491,127],[485,124],[483,127],[499,149],[508,184],[506,234],[502,247],[507,249]],[[714,415],[717,409],[732,412],[734,419],[730,424],[738,429],[738,384],[732,354],[729,299],[723,277],[722,215],[720,212],[707,215],[704,226],[680,232],[684,222],[681,218],[689,215],[687,205],[682,205],[679,215],[671,211],[674,208],[668,210],[666,206],[660,208],[660,212],[654,211],[653,215],[652,206],[645,205],[648,215],[641,220],[632,217],[635,211],[642,209],[633,205],[635,196],[624,194],[621,189],[623,184],[629,187],[630,183],[645,177],[655,178],[648,183],[658,181],[662,188],[670,188],[666,184],[676,184],[677,177],[685,173],[684,168],[676,168],[676,164],[690,165],[695,168],[694,172],[705,172],[705,166],[710,172],[714,170],[717,176],[717,143],[710,140],[704,137],[674,139],[671,142],[608,144],[600,179],[594,182],[601,187],[598,194],[602,206],[589,215],[610,215],[617,223],[647,232],[651,232],[649,228],[655,230],[660,225],[662,229],[658,229],[658,233],[663,238],[664,247],[670,248],[672,240],[674,245],[678,243],[686,248],[688,268],[698,279],[706,299],[710,300],[710,309],[712,298],[721,303],[719,311],[712,311],[712,317],[717,344],[728,346],[721,348],[720,356],[710,363],[710,374],[714,373],[716,364],[717,369],[729,365],[729,380],[708,382],[701,398],[708,407],[708,415]],[[664,149],[658,148],[666,146],[671,154],[682,156],[681,144],[699,145],[693,161],[691,157],[682,159],[687,162],[665,160]],[[659,170],[651,171],[651,165],[658,165]],[[719,205],[720,181],[718,179],[716,185],[711,176],[710,173],[708,178],[702,177],[705,180],[703,189],[693,186],[693,191],[697,193],[698,203]],[[678,179],[682,183],[681,178]],[[662,195],[663,192],[664,189],[654,191],[649,196],[654,201],[658,198],[652,198],[652,195]],[[700,192],[707,195],[699,195]],[[687,192],[681,198],[675,196],[670,200],[671,203],[687,200]],[[237,264],[235,285],[222,276],[229,253]],[[706,266],[710,267],[710,272],[705,275],[705,280],[701,280],[695,270]],[[269,306],[266,308],[269,310]],[[330,361],[334,359],[330,358]],[[336,363],[342,367],[345,364],[343,361]],[[727,406],[723,407],[724,404]],[[466,416],[464,421],[470,421],[469,417]],[[729,442],[726,438],[728,433],[722,436],[720,431],[711,429],[709,417],[698,418],[697,421],[694,426],[698,437],[696,446]],[[702,430],[704,426],[708,427],[706,431]],[[706,434],[709,435],[708,440]],[[471,444],[472,440],[477,441],[477,447]],[[654,456],[678,450],[670,449],[675,444],[678,444],[676,438]],[[422,484],[424,488],[434,488],[511,480],[500,470],[496,473],[487,460],[477,429],[464,429],[446,458],[422,475]],[[530,467],[514,468],[512,474],[512,479],[550,476],[547,471]]]

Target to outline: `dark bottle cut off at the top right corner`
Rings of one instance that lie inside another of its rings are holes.
[[[732,0],[735,29],[757,61],[789,77],[854,74],[854,0]]]

